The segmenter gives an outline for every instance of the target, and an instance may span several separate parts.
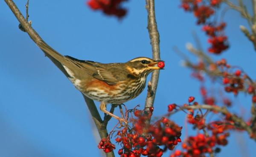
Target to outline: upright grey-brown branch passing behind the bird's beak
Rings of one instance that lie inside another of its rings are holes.
[[[148,11],[148,33],[152,47],[152,54],[154,60],[160,60],[160,39],[157,30],[157,22],[155,17],[154,0],[146,0],[146,9]],[[151,81],[148,84],[148,94],[145,100],[145,109],[153,107],[154,98],[157,91],[157,84],[159,78],[159,70],[154,70],[151,76]]]

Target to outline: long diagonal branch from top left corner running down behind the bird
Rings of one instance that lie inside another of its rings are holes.
[[[38,35],[38,33],[31,27],[29,22],[27,22],[27,20],[21,14],[20,10],[17,8],[15,3],[12,0],[5,0],[5,2],[9,6],[9,8],[12,10],[13,14],[17,18],[17,20],[20,22],[20,25],[22,25],[22,27],[24,28],[26,33],[29,35],[29,37],[35,43],[43,41],[43,39]],[[46,53],[45,53],[45,55],[67,76],[67,73],[64,70],[64,68],[62,67],[62,65],[60,64],[60,62],[58,62],[51,56],[47,55]],[[102,121],[102,118],[100,117],[99,112],[98,112],[93,100],[91,100],[90,98],[87,98],[85,95],[83,95],[83,96],[84,96],[84,100],[87,104],[87,107],[92,115],[93,121],[96,124],[96,127],[98,129],[100,137],[101,138],[108,137],[108,131],[106,129],[107,125]],[[115,155],[114,155],[113,151],[110,153],[106,153],[106,157],[114,157],[114,156]]]

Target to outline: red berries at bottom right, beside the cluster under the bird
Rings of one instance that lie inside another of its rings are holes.
[[[205,89],[202,90],[202,94],[206,95]],[[190,105],[198,105],[198,102],[194,101],[195,98],[190,96],[189,104],[184,104],[181,108],[186,108]],[[213,105],[214,106],[214,105]],[[169,105],[169,109],[172,112],[172,108],[176,108],[177,105]],[[200,109],[199,109],[200,110]],[[190,136],[182,143],[183,151],[176,150],[170,157],[202,157],[206,154],[218,153],[221,149],[218,146],[227,145],[227,137],[229,133],[227,131],[231,129],[239,130],[236,128],[236,123],[233,121],[231,114],[225,115],[223,121],[212,121],[206,123],[205,114],[200,110],[200,113],[194,115],[194,109],[188,109],[187,120],[193,124],[194,129],[203,130],[204,134],[198,133],[196,136]],[[249,125],[249,124],[248,124]],[[208,130],[208,131],[206,131]]]

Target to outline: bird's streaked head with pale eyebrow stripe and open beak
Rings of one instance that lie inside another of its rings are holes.
[[[163,69],[161,67],[157,67],[157,64],[159,62],[163,62],[163,61],[161,60],[155,61],[147,57],[137,57],[126,62],[126,65],[127,65],[126,68],[131,74],[135,76],[143,76],[143,75],[147,76],[153,70]]]

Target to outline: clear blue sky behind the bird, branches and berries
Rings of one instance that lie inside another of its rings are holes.
[[[200,83],[190,77],[190,70],[180,66],[182,59],[173,47],[191,56],[185,44],[195,43],[193,31],[198,32],[205,50],[209,45],[193,15],[184,13],[179,2],[156,1],[161,59],[166,67],[160,73],[155,115],[165,112],[168,104],[183,104],[191,95],[201,100]],[[26,0],[16,3],[24,13]],[[64,55],[103,63],[151,57],[145,1],[130,0],[124,6],[128,14],[117,20],[91,11],[84,0],[31,0],[29,20],[38,34]],[[17,28],[18,22],[4,1],[0,1],[0,14],[0,157],[100,157],[82,95],[29,36]],[[221,56],[213,57],[227,58],[230,64],[243,67],[256,78],[255,50],[239,30],[239,25],[247,26],[246,21],[231,10],[223,19],[227,21],[226,34],[231,46]],[[235,104],[231,111],[249,117],[250,97],[227,96]],[[146,90],[125,104],[128,108],[143,105],[145,97]],[[172,120],[183,125],[184,117],[180,113]],[[112,119],[111,126],[115,123]],[[234,132],[228,140],[230,144],[221,147],[218,156],[253,157],[256,143],[246,133]],[[169,153],[163,155],[168,156]]]

